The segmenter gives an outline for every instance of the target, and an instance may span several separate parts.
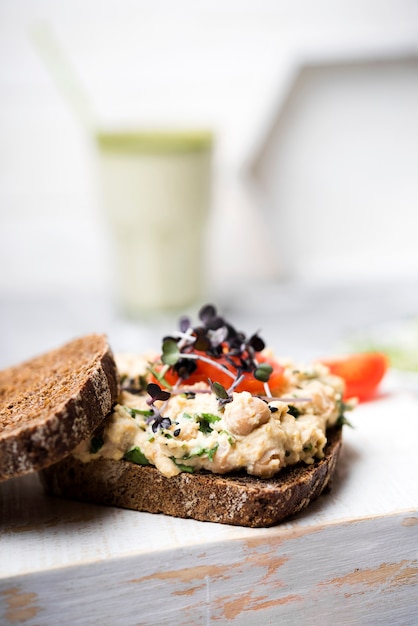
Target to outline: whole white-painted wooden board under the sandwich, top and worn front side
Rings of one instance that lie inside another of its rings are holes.
[[[270,529],[0,485],[0,624],[418,623],[418,399],[350,416],[331,493]]]

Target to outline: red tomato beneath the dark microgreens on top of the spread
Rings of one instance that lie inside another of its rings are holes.
[[[273,371],[270,374],[270,378],[268,381],[269,388],[273,395],[274,392],[280,393],[280,391],[286,385],[286,378],[284,376],[283,366],[279,365],[279,363],[276,363],[272,359],[262,357],[261,355],[257,357],[257,360],[259,363],[268,363],[272,366]],[[225,358],[221,357],[219,359],[216,359],[215,362],[229,369],[233,376],[235,376],[235,372]],[[218,369],[216,365],[212,363],[206,363],[205,361],[197,360],[197,369],[193,372],[193,374],[191,374],[188,378],[184,380],[184,384],[194,385],[195,383],[202,381],[207,383],[208,379],[210,379],[212,382],[218,382],[223,387],[225,387],[225,389],[228,389],[234,381],[233,376],[228,376],[228,374]],[[164,378],[168,383],[170,383],[170,385],[174,385],[178,381],[177,374],[173,373],[171,370],[167,372]],[[249,391],[253,395],[263,395],[264,383],[254,378],[252,374],[245,373],[243,380],[235,388],[235,390]]]

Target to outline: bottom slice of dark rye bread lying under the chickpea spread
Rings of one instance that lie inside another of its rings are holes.
[[[341,447],[341,428],[328,432],[325,456],[284,468],[277,477],[183,472],[166,478],[129,461],[67,457],[41,472],[52,495],[174,517],[238,526],[273,526],[304,509],[329,484]]]

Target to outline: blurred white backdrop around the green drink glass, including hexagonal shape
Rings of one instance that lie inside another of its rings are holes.
[[[69,96],[57,44],[83,98]],[[38,349],[84,330],[81,319],[99,325],[76,300],[103,297],[112,275],[86,117],[103,128],[214,131],[208,260],[220,300],[241,285],[256,314],[270,306],[252,295],[265,280],[279,281],[285,303],[288,279],[414,284],[417,58],[412,0],[0,0],[8,355],[24,353],[18,336]],[[42,332],[31,294],[57,309]],[[52,332],[64,302],[70,322]],[[38,322],[25,335],[29,319]]]

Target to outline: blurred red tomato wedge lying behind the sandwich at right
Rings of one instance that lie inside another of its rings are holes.
[[[377,390],[389,366],[386,355],[380,352],[350,354],[337,359],[322,360],[332,374],[345,381],[344,399],[369,400]]]

